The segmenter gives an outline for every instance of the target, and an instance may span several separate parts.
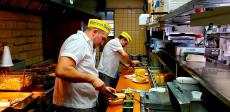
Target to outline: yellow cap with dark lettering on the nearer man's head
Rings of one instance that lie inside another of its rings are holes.
[[[89,19],[88,22],[89,28],[98,28],[106,33],[109,33],[112,27],[105,21],[99,19]]]

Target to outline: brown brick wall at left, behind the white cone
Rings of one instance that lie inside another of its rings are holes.
[[[12,58],[26,65],[42,61],[41,17],[0,11],[0,42],[7,42]]]

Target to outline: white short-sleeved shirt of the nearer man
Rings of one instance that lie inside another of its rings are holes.
[[[87,74],[98,75],[95,68],[96,52],[92,40],[78,31],[66,39],[59,56],[72,58],[76,70]],[[60,78],[55,79],[53,103],[71,108],[92,108],[96,106],[98,91],[90,83],[71,83]]]

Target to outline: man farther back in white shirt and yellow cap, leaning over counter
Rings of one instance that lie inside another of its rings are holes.
[[[131,41],[131,36],[127,32],[122,32],[119,37],[111,39],[104,46],[98,65],[98,71],[99,77],[107,86],[116,87],[116,73],[121,58],[126,60],[130,65],[134,65],[129,55],[123,49]],[[121,62],[121,64],[128,67],[123,62]],[[133,71],[133,67],[129,69]]]

